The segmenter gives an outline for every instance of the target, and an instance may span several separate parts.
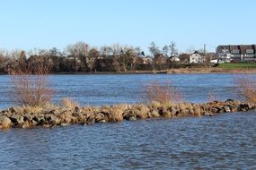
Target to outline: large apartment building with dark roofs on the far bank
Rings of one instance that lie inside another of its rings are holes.
[[[216,47],[218,63],[256,62],[256,45],[225,45]]]

